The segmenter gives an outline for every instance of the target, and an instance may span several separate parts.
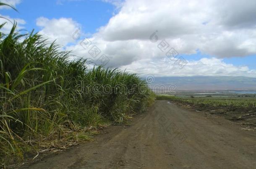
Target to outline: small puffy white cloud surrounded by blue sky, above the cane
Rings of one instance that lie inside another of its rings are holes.
[[[72,34],[80,28],[80,25],[71,18],[48,19],[44,17],[37,18],[37,26],[41,27],[40,34],[44,35],[50,41],[56,40],[57,44],[67,45],[73,43],[76,39]]]

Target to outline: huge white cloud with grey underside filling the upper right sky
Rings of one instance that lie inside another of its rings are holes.
[[[219,58],[256,51],[256,1],[127,0],[95,35],[106,41],[149,40],[154,30],[180,53],[197,49]],[[249,41],[250,45],[247,45]]]

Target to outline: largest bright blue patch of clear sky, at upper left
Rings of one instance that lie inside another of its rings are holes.
[[[112,17],[115,6],[99,0],[22,0],[14,10],[1,9],[1,14],[12,18],[23,18],[26,20],[26,30],[40,28],[36,25],[36,19],[45,18],[73,18],[82,25],[87,33],[95,33],[97,28],[106,25]]]

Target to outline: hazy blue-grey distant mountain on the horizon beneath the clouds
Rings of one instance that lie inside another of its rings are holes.
[[[176,85],[177,90],[256,90],[256,78],[234,76],[155,77],[150,86]]]

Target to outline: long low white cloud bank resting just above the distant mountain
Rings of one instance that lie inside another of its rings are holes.
[[[250,70],[247,66],[234,66],[227,64],[218,58],[201,58],[199,61],[188,61],[180,68],[179,64],[169,58],[160,60],[143,59],[133,62],[122,69],[138,73],[141,76],[246,76],[256,77],[256,70]]]

